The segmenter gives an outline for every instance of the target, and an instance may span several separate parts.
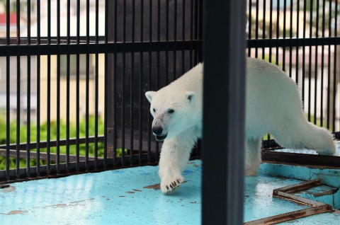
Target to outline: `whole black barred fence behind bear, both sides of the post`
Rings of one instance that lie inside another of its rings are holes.
[[[246,54],[285,70],[308,120],[338,138],[338,1],[246,3]],[[144,94],[202,61],[202,1],[0,4],[0,180],[157,163]]]

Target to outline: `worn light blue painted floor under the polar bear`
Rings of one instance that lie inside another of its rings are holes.
[[[200,224],[201,162],[191,161],[178,190],[162,195],[157,166],[13,183],[0,190],[0,224]],[[246,178],[244,221],[303,209],[272,197],[273,189],[300,180]],[[340,224],[327,213],[287,224]]]

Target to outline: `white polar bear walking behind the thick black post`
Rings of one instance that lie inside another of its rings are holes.
[[[203,64],[159,91],[147,91],[154,117],[152,132],[163,141],[159,159],[162,192],[183,182],[193,145],[202,135]],[[290,149],[314,149],[334,155],[336,147],[327,129],[308,122],[296,84],[276,65],[246,59],[245,173],[255,175],[261,163],[261,138],[272,134]],[[237,151],[237,149],[235,149]]]

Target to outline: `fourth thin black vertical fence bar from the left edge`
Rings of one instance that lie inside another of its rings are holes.
[[[37,45],[40,45],[40,0],[37,0]],[[37,175],[40,176],[40,55],[37,55]]]

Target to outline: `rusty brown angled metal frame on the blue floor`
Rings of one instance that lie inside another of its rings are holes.
[[[299,197],[297,195],[293,195],[295,192],[299,192],[302,190],[307,190],[310,188],[314,188],[322,185],[319,179],[310,180],[303,183],[298,183],[296,185],[290,185],[283,188],[278,188],[273,190],[273,197],[278,197],[284,200],[289,200],[292,202],[296,202],[297,204],[305,204],[310,206],[307,209],[300,209],[293,212],[278,214],[273,217],[266,217],[262,219],[256,219],[253,221],[248,221],[244,223],[245,225],[256,225],[256,224],[278,224],[285,221],[290,221],[293,219],[299,219],[302,217],[309,217],[314,214],[321,214],[324,212],[332,212],[333,208],[329,204],[325,204],[322,202],[317,202],[313,200],[307,200],[304,197]]]

